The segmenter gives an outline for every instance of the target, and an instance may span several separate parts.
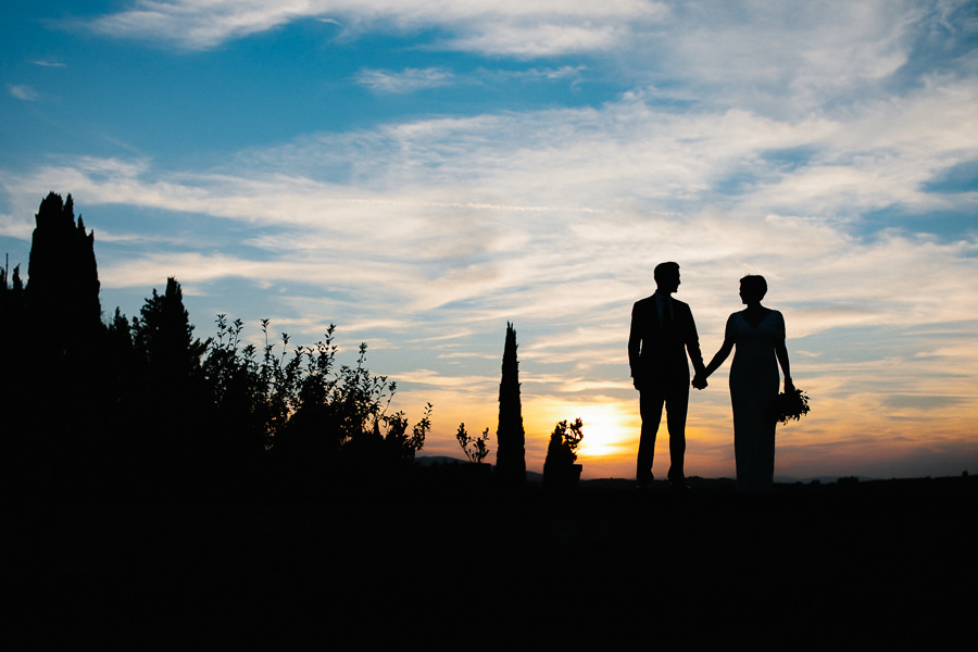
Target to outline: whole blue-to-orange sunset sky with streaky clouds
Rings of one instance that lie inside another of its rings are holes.
[[[516,329],[527,467],[581,417],[634,477],[631,305],[680,265],[703,355],[762,274],[811,399],[776,476],[978,472],[978,3],[35,0],[0,22],[0,253],[38,205],[95,231],[106,316],[175,277],[201,338],[337,325],[496,431]],[[28,279],[29,283],[29,279]],[[688,475],[734,477],[729,362]],[[494,437],[490,441],[494,461]],[[667,438],[654,473],[665,477]]]

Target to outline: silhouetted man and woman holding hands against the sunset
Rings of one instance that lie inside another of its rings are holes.
[[[636,477],[640,486],[652,481],[655,435],[665,408],[669,431],[673,488],[686,488],[686,415],[689,387],[706,387],[706,378],[736,348],[730,367],[730,400],[734,406],[734,453],[737,486],[745,492],[761,492],[774,481],[774,402],[778,396],[778,363],[785,372],[785,391],[793,389],[785,346],[785,318],[761,305],[767,292],[763,276],[740,279],[740,299],[747,308],[727,319],[724,343],[709,365],[703,365],[692,311],[672,294],[679,289],[679,265],[655,267],[655,293],[637,301],[631,311],[628,363],[635,388],[639,390],[642,430],[639,439]],[[689,377],[687,355],[695,376]]]

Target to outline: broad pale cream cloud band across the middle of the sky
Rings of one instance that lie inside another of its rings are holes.
[[[610,315],[610,306],[626,311],[615,319],[627,319],[636,284],[651,277],[650,256],[669,258],[697,275],[684,291],[703,305],[711,328],[722,328],[736,279],[755,271],[797,305],[795,336],[810,337],[895,326],[908,316],[926,324],[974,314],[974,292],[960,272],[974,266],[974,235],[894,227],[866,239],[858,225],[862,214],[894,204],[930,210],[949,201],[928,192],[927,181],[978,151],[978,139],[952,139],[948,127],[974,113],[975,99],[968,85],[951,84],[886,111],[868,104],[841,122],[675,114],[629,95],[597,110],[303,137],[250,152],[220,173],[83,159],[13,175],[8,187],[41,197],[59,178],[76,205],[152,208],[249,229],[244,242],[265,260],[223,252],[208,253],[210,263],[180,263],[184,276],[201,281],[301,279],[365,292],[378,304],[397,297],[411,319],[430,311],[463,319],[580,319]],[[912,137],[903,134],[907,114],[925,109],[931,120],[917,123]],[[798,149],[804,160],[789,168],[769,154]],[[349,166],[309,176],[330,158]],[[731,189],[731,175],[751,180]],[[116,228],[113,237],[125,234]],[[350,268],[356,278],[344,274]],[[100,269],[109,286],[145,283],[127,268]]]

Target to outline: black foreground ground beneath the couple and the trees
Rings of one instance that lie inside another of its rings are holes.
[[[691,484],[5,497],[4,631],[30,623],[42,648],[130,628],[152,648],[974,644],[978,478]]]

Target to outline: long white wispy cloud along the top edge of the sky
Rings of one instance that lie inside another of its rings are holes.
[[[138,0],[130,9],[89,23],[99,34],[210,49],[299,20],[366,29],[416,30],[440,25],[456,33],[441,47],[510,55],[604,50],[632,26],[661,20],[667,10],[643,0]],[[338,16],[338,18],[337,18]]]

